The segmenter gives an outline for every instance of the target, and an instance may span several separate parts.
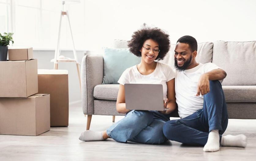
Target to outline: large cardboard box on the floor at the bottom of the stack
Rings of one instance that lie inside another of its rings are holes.
[[[0,98],[0,134],[39,135],[50,130],[50,95]]]

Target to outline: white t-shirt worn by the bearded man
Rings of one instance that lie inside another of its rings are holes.
[[[199,63],[192,69],[182,72],[175,71],[175,94],[180,118],[189,116],[203,108],[204,97],[196,96],[198,80],[202,74],[218,68],[220,67],[213,63]]]

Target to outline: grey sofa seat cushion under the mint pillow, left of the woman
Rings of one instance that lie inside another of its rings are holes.
[[[93,96],[96,99],[116,100],[119,84],[99,84],[94,87]]]

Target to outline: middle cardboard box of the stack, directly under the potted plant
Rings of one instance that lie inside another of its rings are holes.
[[[37,59],[0,62],[0,97],[38,93]]]

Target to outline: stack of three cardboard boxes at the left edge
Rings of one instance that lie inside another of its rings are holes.
[[[8,52],[15,61],[0,62],[0,134],[44,133],[50,130],[50,95],[36,94],[37,59],[32,48]]]

